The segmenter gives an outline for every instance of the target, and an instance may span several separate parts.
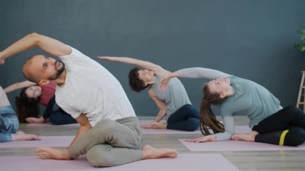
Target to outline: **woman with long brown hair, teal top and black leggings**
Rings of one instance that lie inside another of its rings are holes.
[[[280,101],[258,83],[218,70],[193,67],[169,73],[160,82],[165,90],[173,77],[213,79],[205,84],[200,104],[200,130],[204,136],[190,142],[244,140],[296,146],[305,141],[305,114],[295,106],[281,107]],[[220,108],[220,123],[211,105]],[[234,134],[234,114],[246,114],[250,133]],[[211,133],[208,128],[213,130]]]

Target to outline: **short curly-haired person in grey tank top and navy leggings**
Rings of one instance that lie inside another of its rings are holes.
[[[129,71],[129,85],[132,90],[140,92],[148,88],[148,95],[156,102],[159,112],[152,123],[141,125],[142,128],[159,128],[194,131],[199,126],[199,110],[194,107],[189,99],[187,91],[178,78],[169,82],[169,88],[162,93],[159,81],[164,75],[170,73],[160,65],[130,57],[98,57],[110,61],[134,64]],[[163,118],[166,122],[160,123]]]

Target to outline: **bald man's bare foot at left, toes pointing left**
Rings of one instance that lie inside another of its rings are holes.
[[[36,154],[41,159],[65,159],[65,160],[72,159],[68,149],[60,150],[50,147],[39,147],[36,149]]]

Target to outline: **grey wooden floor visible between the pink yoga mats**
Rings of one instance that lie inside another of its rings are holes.
[[[152,117],[140,117],[151,119]],[[236,116],[237,125],[247,125],[248,119]],[[40,136],[72,136],[76,135],[76,126],[26,126],[20,125],[20,130],[36,133]],[[177,139],[193,138],[192,134],[149,134],[144,135],[144,143],[155,147],[170,147],[179,153],[221,153],[240,170],[305,170],[305,151],[208,151],[191,152]],[[35,155],[35,147],[0,148],[0,156]],[[221,163],[219,163],[221,164]],[[1,167],[0,167],[1,170]],[[203,169],[204,170],[204,166]]]

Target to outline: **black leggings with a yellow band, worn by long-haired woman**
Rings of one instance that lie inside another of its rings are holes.
[[[305,113],[289,105],[261,120],[252,130],[255,142],[297,146],[305,141]]]

